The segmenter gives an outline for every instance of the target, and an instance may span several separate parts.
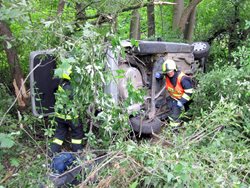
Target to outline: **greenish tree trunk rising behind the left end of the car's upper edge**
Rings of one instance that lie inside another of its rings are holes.
[[[138,9],[132,11],[130,21],[130,39],[134,38],[139,40],[141,37],[140,33],[140,13]]]

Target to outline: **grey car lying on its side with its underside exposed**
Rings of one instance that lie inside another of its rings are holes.
[[[173,59],[178,69],[188,75],[204,72],[209,45],[205,42],[186,44],[162,41],[139,41],[136,46],[123,41],[121,45],[125,57],[116,57],[108,50],[106,67],[113,74],[123,70],[124,77],[106,85],[104,91],[118,102],[128,98],[128,83],[135,89],[146,90],[144,102],[132,104],[127,109],[131,113],[131,127],[139,134],[157,133],[162,120],[167,117],[168,109],[162,102],[167,97],[165,81],[157,80],[155,73],[161,71],[165,59]],[[36,116],[53,113],[54,93],[59,84],[59,79],[53,78],[55,68],[53,51],[34,51],[30,54],[32,111]]]

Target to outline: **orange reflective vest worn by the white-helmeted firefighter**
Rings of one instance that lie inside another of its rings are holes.
[[[170,97],[172,97],[173,99],[180,99],[185,93],[181,85],[181,79],[183,76],[185,76],[183,72],[178,75],[175,87],[170,82],[169,77],[166,77],[166,90],[169,92]]]

